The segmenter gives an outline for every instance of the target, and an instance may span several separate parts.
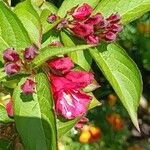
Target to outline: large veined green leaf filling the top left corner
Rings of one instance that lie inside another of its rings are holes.
[[[0,51],[8,47],[14,47],[19,51],[31,44],[21,21],[2,1],[0,1],[0,18]]]

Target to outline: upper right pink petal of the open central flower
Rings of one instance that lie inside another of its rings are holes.
[[[94,75],[85,71],[70,71],[65,78],[76,85],[77,88],[84,88],[92,83]]]

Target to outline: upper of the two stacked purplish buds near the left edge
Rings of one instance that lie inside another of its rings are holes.
[[[6,62],[16,62],[16,61],[19,61],[20,58],[17,52],[13,48],[7,48],[3,52],[3,59]]]

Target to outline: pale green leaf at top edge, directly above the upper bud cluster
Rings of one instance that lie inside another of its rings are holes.
[[[58,15],[60,17],[65,17],[68,10],[71,8],[82,5],[83,3],[88,3],[91,7],[95,7],[100,0],[64,0],[61,7],[58,10]]]

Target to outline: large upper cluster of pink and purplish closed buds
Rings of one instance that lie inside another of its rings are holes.
[[[74,7],[67,13],[67,15],[72,16],[72,19],[66,16],[57,25],[56,29],[67,28],[71,33],[84,39],[88,44],[116,40],[117,34],[122,31],[122,25],[119,23],[120,15],[114,13],[105,19],[101,13],[92,15],[92,12],[92,7],[86,3],[80,7]],[[48,22],[53,23],[57,18],[60,17],[52,14],[48,16]]]

